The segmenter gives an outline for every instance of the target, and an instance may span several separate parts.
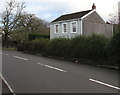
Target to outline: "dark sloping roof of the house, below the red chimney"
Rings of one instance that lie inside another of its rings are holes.
[[[77,13],[72,13],[72,14],[66,14],[58,17],[57,19],[53,20],[52,22],[57,22],[57,21],[62,21],[62,20],[70,20],[70,19],[78,19],[83,17],[84,15],[88,14],[92,10],[87,10],[87,11],[81,11]]]

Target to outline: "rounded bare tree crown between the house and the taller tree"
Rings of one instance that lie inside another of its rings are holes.
[[[24,13],[19,19],[15,31],[25,31],[26,33],[48,33],[49,22],[44,21],[34,14]]]

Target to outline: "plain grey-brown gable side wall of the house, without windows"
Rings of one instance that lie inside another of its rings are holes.
[[[106,24],[103,19],[93,12],[83,19],[83,35],[102,34],[110,38],[113,34],[113,26]]]

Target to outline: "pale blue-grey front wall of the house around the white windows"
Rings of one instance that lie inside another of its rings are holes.
[[[77,22],[77,32],[76,33],[71,33],[71,22],[76,21]],[[67,33],[62,33],[62,23],[67,23]],[[59,33],[55,33],[55,24],[60,25]],[[50,24],[50,39],[54,38],[72,38],[77,35],[81,34],[81,20],[79,19],[74,19],[74,20],[67,20],[67,21],[59,21],[55,23]]]

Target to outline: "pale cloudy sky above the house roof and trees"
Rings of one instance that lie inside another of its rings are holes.
[[[0,0],[0,12],[4,10],[7,1]],[[32,13],[41,19],[51,22],[55,18],[68,13],[90,10],[95,3],[96,11],[104,20],[108,20],[109,14],[117,10],[120,0],[15,0],[25,1],[25,11]]]

